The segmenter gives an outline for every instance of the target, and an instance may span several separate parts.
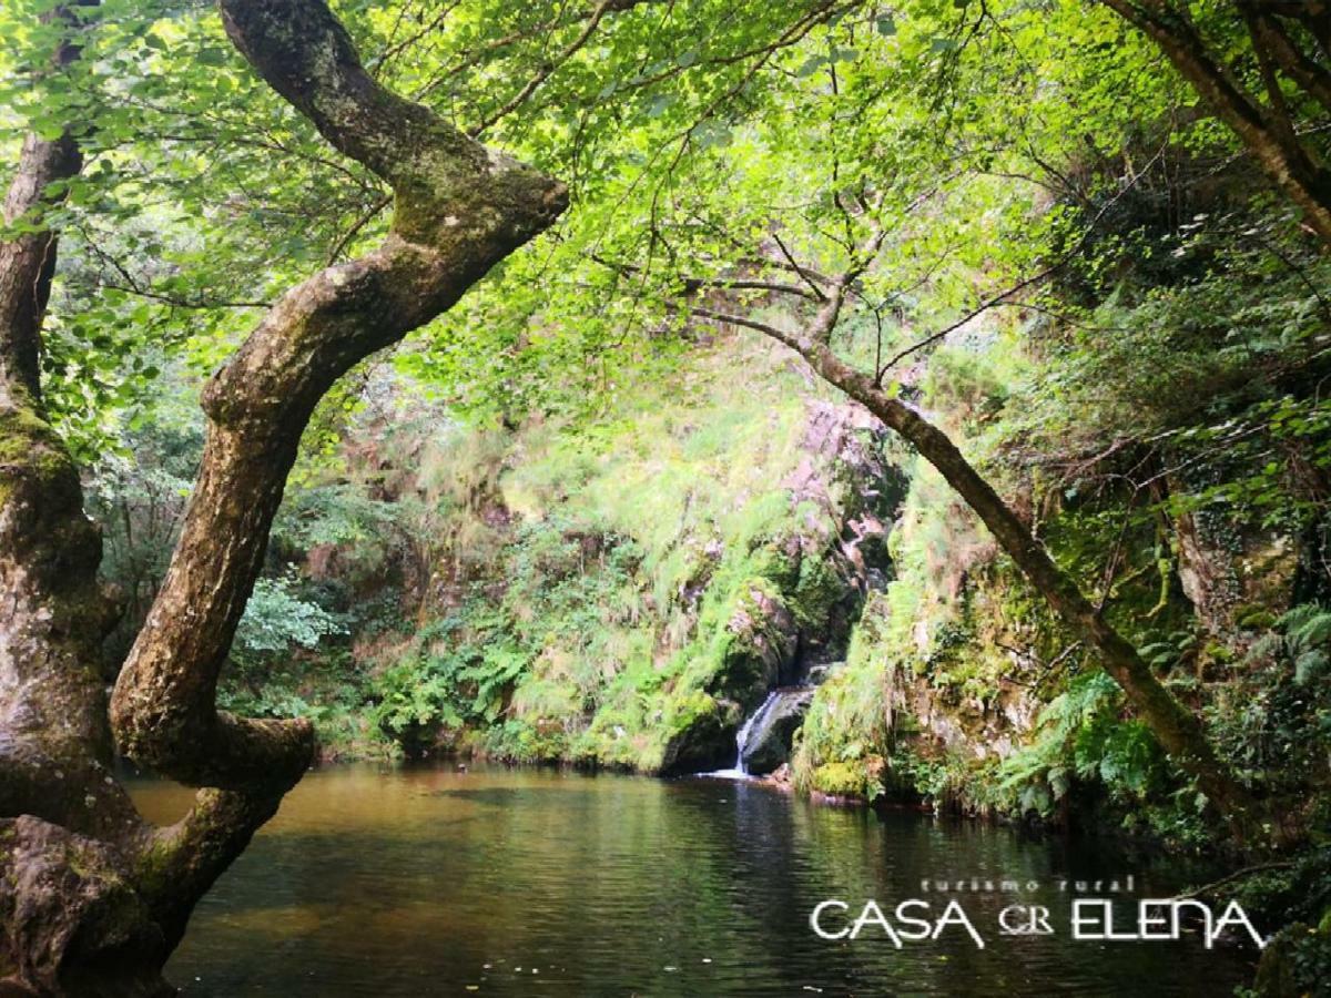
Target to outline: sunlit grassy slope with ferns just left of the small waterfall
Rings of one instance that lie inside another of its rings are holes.
[[[815,413],[843,435],[811,440]],[[458,460],[494,455],[490,499],[450,522],[469,548],[487,535],[487,558],[375,649],[382,727],[418,748],[643,770],[724,753],[796,643],[855,601],[837,539],[864,502],[855,458],[876,458],[848,419],[741,337],[591,424],[453,440]],[[421,463],[441,474],[438,455]]]

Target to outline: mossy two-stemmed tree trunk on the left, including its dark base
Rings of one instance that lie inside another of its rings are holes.
[[[118,677],[98,665],[114,620],[100,536],[41,405],[56,237],[0,242],[0,990],[170,993],[161,967],[194,904],[314,754],[309,724],[233,717],[214,697],[314,406],[566,206],[556,181],[375,84],[323,0],[220,7],[254,69],[393,186],[394,222],[367,255],[285,294],[206,386],[182,536]],[[57,67],[76,55],[63,47]],[[5,218],[40,218],[79,168],[71,134],[29,137]],[[170,828],[140,817],[113,747],[200,788],[189,814]]]

